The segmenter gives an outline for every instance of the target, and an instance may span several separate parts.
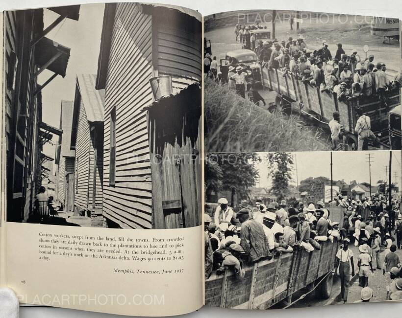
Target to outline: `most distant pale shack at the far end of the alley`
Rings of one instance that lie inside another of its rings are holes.
[[[74,161],[75,150],[70,149],[73,122],[73,102],[61,101],[60,129],[54,162],[56,168],[56,200],[66,212],[74,211]]]

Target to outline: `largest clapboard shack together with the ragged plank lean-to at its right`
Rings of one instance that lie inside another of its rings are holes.
[[[105,90],[102,209],[108,227],[201,223],[201,47],[195,11],[105,4],[96,88]],[[155,90],[168,80],[167,97],[154,97],[151,79]]]

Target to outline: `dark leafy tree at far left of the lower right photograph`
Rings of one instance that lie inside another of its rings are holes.
[[[254,186],[259,177],[254,163],[261,159],[256,153],[207,154],[205,160],[205,187],[231,191],[231,205],[234,194]]]

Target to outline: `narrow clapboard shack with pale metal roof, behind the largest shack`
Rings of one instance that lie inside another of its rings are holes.
[[[71,150],[75,150],[75,215],[102,226],[104,90],[96,75],[76,76]]]

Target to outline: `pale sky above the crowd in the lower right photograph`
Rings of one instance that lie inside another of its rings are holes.
[[[389,165],[389,151],[344,151],[332,152],[332,174],[333,180],[345,180],[350,183],[355,180],[358,183],[369,182],[369,164],[368,154],[372,154],[371,181],[376,184],[378,180],[385,180],[385,166]],[[256,164],[259,170],[260,180],[256,186],[271,187],[271,181],[268,180],[268,167],[266,153],[258,153],[263,159]],[[296,152],[292,153],[296,162],[293,169],[293,185],[296,180],[299,184],[302,180],[309,177],[327,177],[330,178],[330,152]],[[395,173],[397,173],[398,185],[401,189],[401,151],[392,152],[392,182],[395,182]],[[297,179],[296,179],[297,166]]]

